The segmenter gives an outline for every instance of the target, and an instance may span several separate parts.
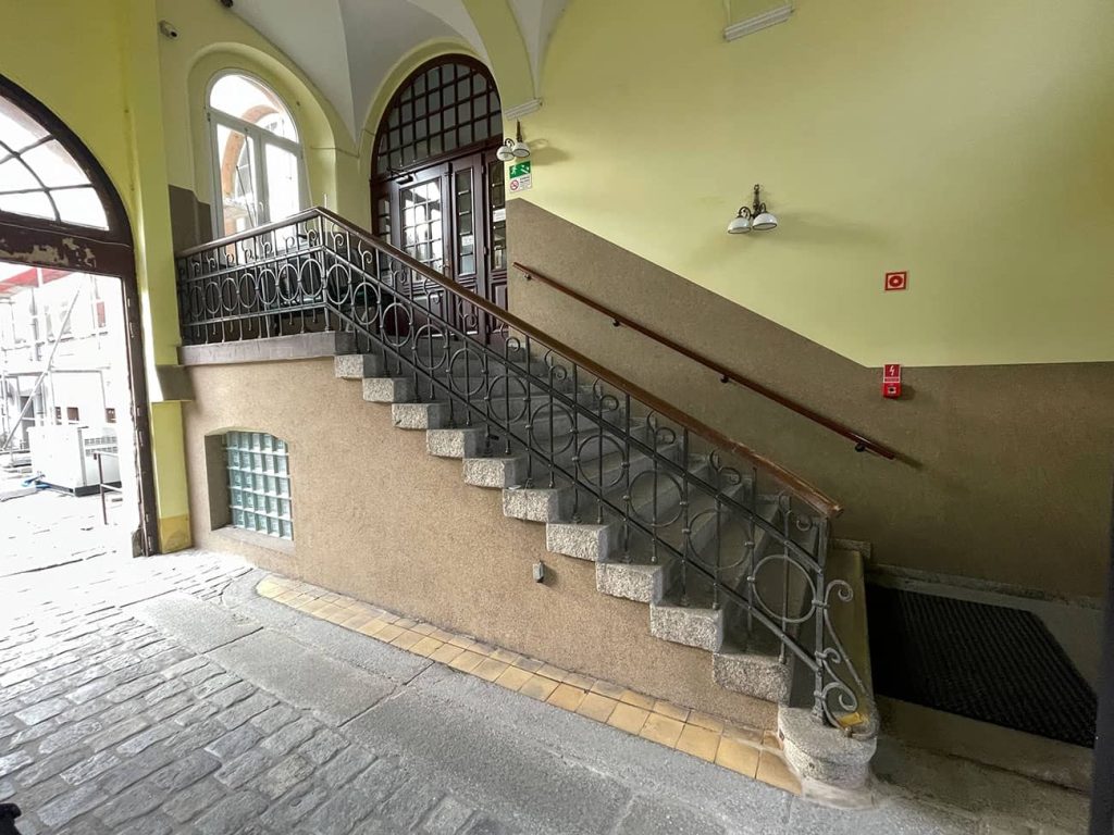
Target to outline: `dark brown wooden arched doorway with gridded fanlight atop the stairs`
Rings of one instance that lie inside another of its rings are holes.
[[[466,56],[416,69],[387,106],[371,178],[375,235],[507,306],[502,108],[490,72]]]

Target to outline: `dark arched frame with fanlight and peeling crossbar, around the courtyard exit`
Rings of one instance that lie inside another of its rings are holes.
[[[158,548],[131,227],[92,153],[42,102],[0,76],[0,261],[120,279],[143,553]],[[0,438],[0,442],[3,439]]]

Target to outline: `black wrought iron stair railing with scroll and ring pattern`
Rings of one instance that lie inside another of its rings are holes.
[[[178,306],[190,345],[353,334],[561,521],[602,525],[612,561],[661,566],[665,602],[722,609],[729,649],[807,669],[818,720],[872,711],[830,617],[852,599],[825,571],[840,508],[744,444],[326,209],[182,253]]]

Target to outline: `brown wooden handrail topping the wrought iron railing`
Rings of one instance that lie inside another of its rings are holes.
[[[809,482],[807,482],[801,477],[797,475],[790,470],[786,470],[784,466],[781,466],[780,464],[768,459],[765,455],[755,452],[746,444],[740,443],[739,441],[727,438],[722,432],[712,429],[706,423],[703,423],[702,421],[692,416],[687,412],[683,412],[680,409],[671,405],[670,403],[666,403],[661,397],[651,394],[645,389],[636,385],[635,383],[632,383],[629,380],[626,380],[619,374],[616,374],[614,371],[604,367],[594,360],[588,358],[579,351],[569,347],[568,345],[554,338],[553,336],[549,336],[547,333],[538,330],[529,322],[526,322],[525,320],[519,318],[512,313],[509,313],[508,311],[498,307],[497,305],[483,298],[482,296],[472,293],[470,289],[461,287],[451,278],[441,275],[431,267],[428,267],[427,265],[422,264],[420,261],[410,257],[401,249],[397,249],[390,244],[387,244],[380,240],[379,238],[372,237],[370,233],[356,228],[351,223],[345,220],[343,217],[341,217],[338,214],[334,214],[333,212],[330,212],[326,208],[322,208],[319,206],[316,208],[306,209],[305,212],[294,215],[293,217],[287,217],[285,220],[281,220],[278,223],[272,223],[267,224],[266,226],[261,226],[255,229],[250,229],[247,232],[238,233],[236,235],[229,235],[228,237],[224,237],[221,238],[219,240],[214,240],[208,244],[203,244],[201,246],[193,246],[189,247],[188,249],[184,249],[180,253],[178,253],[177,257],[185,258],[189,257],[190,255],[198,255],[207,249],[219,248],[222,246],[227,246],[228,244],[236,243],[238,240],[245,240],[252,237],[256,237],[267,232],[274,232],[275,229],[278,228],[291,226],[293,224],[303,223],[304,220],[312,219],[315,216],[323,217],[330,220],[331,223],[335,224],[339,228],[346,232],[349,235],[360,238],[372,248],[385,252],[388,255],[390,255],[391,258],[399,262],[407,268],[413,271],[414,273],[419,274],[427,281],[433,282],[434,284],[441,286],[448,293],[451,293],[457,297],[462,298],[463,301],[471,304],[473,307],[491,315],[497,321],[505,322],[510,328],[518,331],[522,335],[528,336],[531,340],[536,340],[537,342],[541,343],[543,345],[546,345],[550,350],[556,351],[558,354],[563,355],[570,362],[576,363],[585,371],[590,372],[592,374],[599,377],[604,382],[626,392],[632,397],[641,401],[643,404],[649,406],[654,412],[657,412],[663,418],[673,421],[677,425],[684,426],[685,429],[687,429],[691,432],[694,432],[697,435],[701,435],[702,438],[711,441],[716,446],[723,450],[726,450],[729,452],[734,453],[735,455],[739,455],[740,458],[751,461],[753,464],[765,470],[774,478],[776,478],[779,481],[781,481],[783,484],[785,484],[788,488],[793,490],[801,499],[803,499],[819,512],[823,513],[825,517],[836,517],[842,512],[843,508],[842,505],[839,504],[839,502],[837,502],[831,497],[827,495],[819,488],[815,488]]]

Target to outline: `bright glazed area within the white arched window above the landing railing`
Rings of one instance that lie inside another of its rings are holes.
[[[217,237],[305,208],[297,128],[273,90],[250,76],[223,75],[209,89],[208,121]]]

